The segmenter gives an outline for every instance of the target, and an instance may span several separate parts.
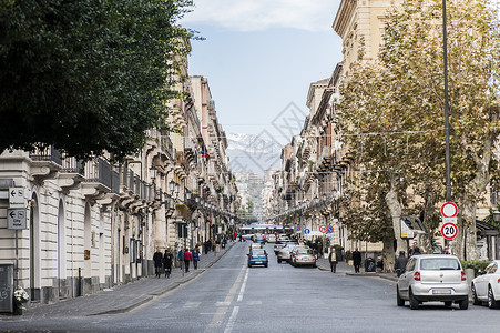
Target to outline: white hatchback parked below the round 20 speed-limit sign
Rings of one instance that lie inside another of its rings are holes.
[[[398,306],[409,301],[410,309],[428,301],[445,302],[445,306],[459,304],[469,307],[469,284],[460,261],[449,254],[420,254],[408,261],[396,286]]]

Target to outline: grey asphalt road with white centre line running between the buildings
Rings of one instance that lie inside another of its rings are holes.
[[[500,311],[426,303],[396,306],[395,283],[313,268],[246,266],[237,243],[191,282],[122,314],[0,321],[2,331],[71,332],[500,332]]]

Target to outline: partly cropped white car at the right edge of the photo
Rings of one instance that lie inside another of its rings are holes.
[[[500,307],[500,260],[493,260],[472,280],[472,304],[480,305],[488,302],[488,307]]]

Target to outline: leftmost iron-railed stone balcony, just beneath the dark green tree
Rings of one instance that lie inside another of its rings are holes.
[[[55,178],[62,169],[62,153],[52,145],[30,152],[31,175],[39,181]]]

